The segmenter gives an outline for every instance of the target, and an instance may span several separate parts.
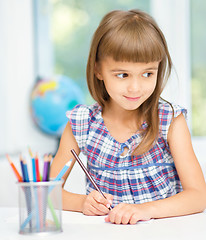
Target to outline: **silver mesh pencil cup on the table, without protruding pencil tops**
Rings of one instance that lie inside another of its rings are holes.
[[[62,183],[18,182],[19,233],[62,232]]]

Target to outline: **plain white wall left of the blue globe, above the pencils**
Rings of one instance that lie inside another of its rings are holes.
[[[32,0],[0,1],[0,154],[28,145],[51,152],[56,140],[34,126],[29,110],[34,84]]]

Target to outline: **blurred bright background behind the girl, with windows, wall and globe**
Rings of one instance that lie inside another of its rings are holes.
[[[108,11],[134,8],[151,14],[165,34],[174,69],[163,97],[188,109],[205,172],[206,1],[0,0],[1,172],[5,153],[14,161],[28,146],[40,158],[55,154],[66,110],[93,102],[85,70],[96,27]]]

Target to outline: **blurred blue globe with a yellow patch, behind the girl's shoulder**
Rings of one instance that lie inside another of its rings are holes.
[[[39,79],[31,94],[32,118],[43,132],[60,137],[68,121],[66,111],[80,103],[84,103],[83,92],[72,79]]]

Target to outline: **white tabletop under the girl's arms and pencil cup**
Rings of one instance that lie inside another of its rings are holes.
[[[62,212],[63,232],[53,235],[20,235],[18,208],[0,208],[1,240],[205,240],[206,212],[175,218],[155,219],[136,225],[115,225],[104,222],[103,216],[84,216]]]

